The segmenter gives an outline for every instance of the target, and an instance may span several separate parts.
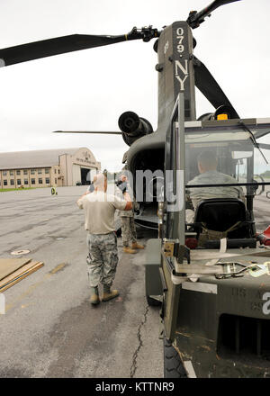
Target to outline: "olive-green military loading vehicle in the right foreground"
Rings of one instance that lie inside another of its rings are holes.
[[[146,255],[148,304],[161,302],[166,378],[270,377],[270,239],[257,235],[253,214],[270,184],[261,176],[269,145],[260,142],[269,132],[270,119],[184,122],[184,95],[175,103],[165,161],[173,176]],[[206,149],[236,184],[190,184]],[[224,187],[241,188],[245,202],[202,200],[187,224],[188,193],[214,188],[219,196]]]

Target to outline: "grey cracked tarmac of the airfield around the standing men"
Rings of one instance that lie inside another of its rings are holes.
[[[123,255],[114,286],[121,292],[98,307],[89,303],[85,186],[0,193],[0,257],[28,249],[44,266],[4,291],[0,315],[0,378],[162,378],[159,308],[149,307],[144,255]],[[270,223],[266,193],[255,199],[257,231]],[[139,242],[146,243],[145,234]],[[24,256],[25,257],[25,256]]]

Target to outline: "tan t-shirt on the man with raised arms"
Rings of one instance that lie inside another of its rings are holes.
[[[90,234],[108,234],[115,230],[114,212],[123,211],[127,202],[121,198],[98,191],[87,193],[77,202],[80,209],[85,210],[85,229]]]

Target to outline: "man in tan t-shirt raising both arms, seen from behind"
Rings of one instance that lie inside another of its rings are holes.
[[[107,302],[119,295],[111,290],[118,264],[117,238],[114,232],[114,212],[130,211],[132,202],[129,193],[123,194],[123,200],[107,192],[107,177],[94,176],[94,192],[85,193],[76,202],[85,211],[85,229],[87,234],[87,272],[90,284],[90,302],[100,302],[98,284],[103,284],[102,301]]]

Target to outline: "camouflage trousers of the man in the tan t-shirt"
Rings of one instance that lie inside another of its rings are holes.
[[[118,264],[117,238],[114,232],[109,234],[87,234],[89,249],[86,257],[89,285],[112,286]]]

